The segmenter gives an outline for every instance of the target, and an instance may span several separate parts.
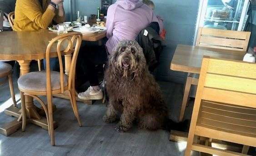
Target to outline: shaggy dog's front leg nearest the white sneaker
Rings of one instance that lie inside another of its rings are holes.
[[[110,99],[110,102],[107,106],[106,114],[103,117],[103,121],[105,123],[112,123],[116,120],[117,111],[115,110],[114,104],[117,102],[116,100]]]

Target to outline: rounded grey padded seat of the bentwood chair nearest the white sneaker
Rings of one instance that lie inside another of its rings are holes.
[[[60,89],[60,73],[51,71],[52,91]],[[64,87],[68,84],[68,76],[64,74]],[[46,92],[46,72],[30,72],[18,79],[18,87],[22,90]]]

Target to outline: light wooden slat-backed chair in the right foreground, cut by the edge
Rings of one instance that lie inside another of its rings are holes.
[[[185,156],[190,156],[191,150],[246,156],[193,143],[195,135],[256,146],[255,71],[256,63],[204,57]]]

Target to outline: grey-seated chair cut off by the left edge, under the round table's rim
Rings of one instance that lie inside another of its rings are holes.
[[[15,93],[14,93],[14,88],[13,88],[13,81],[12,81],[12,67],[10,64],[1,62],[0,61],[0,78],[7,78],[9,81],[9,87],[10,87],[10,95],[13,101],[14,107],[17,107],[17,103],[15,100]],[[3,84],[3,83],[1,83]]]

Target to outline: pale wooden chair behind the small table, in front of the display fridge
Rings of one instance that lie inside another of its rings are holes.
[[[200,27],[196,39],[196,46],[216,49],[229,49],[245,53],[248,47],[250,35],[251,32],[210,29]],[[180,122],[183,120],[184,117],[191,85],[197,85],[198,77],[199,76],[197,74],[188,73],[183,101],[181,104],[181,112],[179,117]]]

